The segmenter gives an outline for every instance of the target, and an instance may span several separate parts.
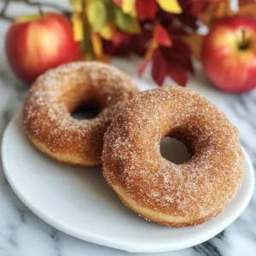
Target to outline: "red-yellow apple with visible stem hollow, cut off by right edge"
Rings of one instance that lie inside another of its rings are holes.
[[[205,38],[201,61],[219,89],[247,92],[256,87],[256,20],[233,16],[219,21]]]

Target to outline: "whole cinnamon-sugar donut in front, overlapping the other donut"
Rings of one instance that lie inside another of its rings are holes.
[[[191,158],[176,165],[160,140],[176,137]],[[212,102],[180,86],[135,96],[104,136],[103,174],[121,201],[143,218],[171,227],[216,217],[241,184],[238,131]]]

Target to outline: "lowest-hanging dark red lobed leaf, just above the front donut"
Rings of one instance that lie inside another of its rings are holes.
[[[185,86],[188,79],[186,69],[169,62],[160,48],[154,50],[152,62],[151,75],[157,84],[161,86],[166,76],[170,76],[177,84]]]

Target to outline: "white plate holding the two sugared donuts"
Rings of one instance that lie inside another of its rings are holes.
[[[32,212],[71,236],[129,252],[164,252],[207,241],[241,214],[253,194],[253,167],[245,153],[241,189],[224,212],[205,224],[171,229],[126,208],[101,169],[64,166],[41,154],[27,139],[20,113],[4,133],[2,154],[10,185]]]

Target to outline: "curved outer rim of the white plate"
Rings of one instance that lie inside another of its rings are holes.
[[[211,232],[209,231],[207,233],[207,236],[204,236],[203,239],[200,239],[198,236],[196,236],[198,238],[197,239],[194,238],[192,240],[192,242],[187,241],[186,243],[180,243],[180,244],[177,244],[176,247],[173,245],[172,245],[172,247],[170,247],[168,244],[163,244],[160,247],[152,246],[152,247],[147,247],[147,249],[145,249],[145,247],[143,247],[143,246],[140,246],[139,243],[131,246],[131,244],[128,245],[123,241],[113,241],[106,236],[102,236],[102,235],[95,236],[95,234],[84,233],[81,230],[74,229],[72,226],[70,226],[68,224],[61,223],[61,221],[59,221],[53,215],[51,215],[49,213],[45,213],[39,207],[34,206],[32,204],[32,202],[26,198],[26,195],[24,195],[24,193],[22,191],[20,192],[20,190],[16,188],[16,185],[13,182],[12,177],[10,176],[10,173],[7,171],[8,170],[7,163],[5,162],[3,154],[5,152],[4,145],[5,145],[5,141],[6,141],[7,131],[9,131],[9,128],[11,127],[11,125],[13,125],[15,123],[15,121],[19,121],[18,120],[19,118],[21,118],[21,111],[16,113],[15,116],[13,117],[13,119],[11,119],[9,121],[9,124],[6,126],[5,131],[3,132],[3,140],[2,140],[2,146],[1,146],[2,147],[2,150],[1,150],[2,155],[1,156],[2,156],[2,162],[3,162],[3,171],[4,171],[5,176],[9,182],[10,187],[14,190],[15,195],[17,195],[19,197],[20,201],[22,201],[26,205],[26,207],[28,207],[39,218],[43,219],[45,223],[51,225],[52,227],[54,227],[57,230],[60,230],[61,232],[64,232],[65,234],[67,234],[69,236],[74,236],[76,238],[79,238],[82,241],[88,241],[88,242],[92,242],[92,243],[95,243],[95,244],[98,244],[101,246],[106,246],[106,247],[113,247],[115,249],[125,250],[130,253],[161,253],[161,252],[184,249],[187,247],[193,247],[197,244],[200,244],[204,241],[211,239],[213,236],[218,235],[219,232],[226,229],[231,223],[233,223],[236,220],[236,218],[238,218],[241,215],[241,213],[246,209],[247,205],[249,204],[249,202],[252,199],[254,184],[255,184],[253,164],[252,164],[252,161],[250,160],[250,157],[248,156],[246,150],[241,147],[243,154],[244,154],[244,161],[247,162],[247,165],[248,165],[247,172],[250,175],[250,177],[252,177],[251,183],[250,183],[250,188],[247,189],[246,200],[241,202],[241,206],[239,208],[236,208],[236,214],[232,214],[231,218],[229,218],[228,221],[226,220],[224,222],[225,223],[224,228],[223,228],[223,225],[221,225],[220,228],[217,225],[217,228],[212,229]],[[25,131],[24,131],[24,133],[25,133]],[[220,214],[222,214],[222,213],[220,213]],[[212,220],[209,220],[209,221],[212,221]],[[189,228],[193,228],[193,227],[189,227]]]

